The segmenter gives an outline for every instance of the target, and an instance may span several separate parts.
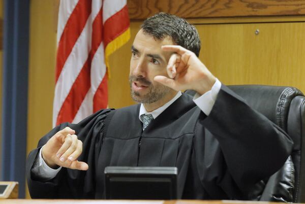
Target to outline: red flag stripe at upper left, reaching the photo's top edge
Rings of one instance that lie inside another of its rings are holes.
[[[56,82],[91,13],[91,5],[92,1],[79,0],[65,25],[57,49]]]

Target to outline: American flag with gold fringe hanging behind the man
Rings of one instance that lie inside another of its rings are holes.
[[[61,0],[53,126],[108,105],[108,57],[130,39],[126,0]]]

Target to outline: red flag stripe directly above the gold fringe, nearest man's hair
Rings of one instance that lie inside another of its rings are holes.
[[[104,23],[104,47],[129,28],[129,16],[127,5],[116,12]]]

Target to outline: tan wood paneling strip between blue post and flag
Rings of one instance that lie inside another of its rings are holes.
[[[37,147],[39,139],[52,128],[56,53],[53,9],[53,0],[31,0],[27,154]],[[26,198],[29,198],[28,191]]]

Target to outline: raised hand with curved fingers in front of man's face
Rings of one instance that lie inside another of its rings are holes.
[[[216,78],[193,52],[178,45],[162,46],[162,50],[173,52],[167,65],[169,78],[156,76],[155,81],[177,91],[193,89],[201,95],[216,82]]]

